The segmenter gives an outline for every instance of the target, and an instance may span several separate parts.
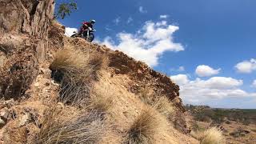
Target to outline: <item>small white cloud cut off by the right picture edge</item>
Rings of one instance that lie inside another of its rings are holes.
[[[256,70],[256,59],[251,58],[250,61],[239,62],[234,67],[239,73],[249,74]]]

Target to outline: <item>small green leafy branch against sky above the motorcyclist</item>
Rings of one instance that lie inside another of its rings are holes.
[[[78,10],[77,2],[74,2],[74,0],[71,0],[70,2],[62,2],[58,5],[55,17],[64,19],[66,15],[70,15],[74,10]]]

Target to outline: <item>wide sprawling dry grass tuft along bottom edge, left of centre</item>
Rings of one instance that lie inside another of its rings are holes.
[[[59,110],[50,111],[34,140],[38,144],[95,143],[104,135],[106,127],[97,112],[63,116]]]

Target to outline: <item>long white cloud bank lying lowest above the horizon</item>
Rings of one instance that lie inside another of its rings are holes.
[[[202,104],[211,99],[256,97],[255,93],[241,90],[242,80],[226,77],[213,77],[206,80],[196,78],[190,80],[186,74],[170,77],[180,86],[180,94],[184,102]]]

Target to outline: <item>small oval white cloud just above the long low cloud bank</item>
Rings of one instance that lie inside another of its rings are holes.
[[[195,73],[198,74],[199,77],[209,77],[209,76],[218,74],[220,72],[220,70],[221,69],[214,70],[210,66],[200,65],[195,70]]]

